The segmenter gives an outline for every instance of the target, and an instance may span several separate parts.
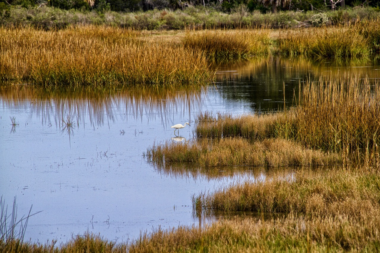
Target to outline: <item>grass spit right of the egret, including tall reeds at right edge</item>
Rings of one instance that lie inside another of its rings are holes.
[[[307,82],[298,105],[263,115],[198,116],[197,138],[282,138],[303,147],[331,150],[344,162],[379,166],[380,91],[369,80],[354,77]]]

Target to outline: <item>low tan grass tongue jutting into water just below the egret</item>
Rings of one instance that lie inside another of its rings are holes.
[[[339,155],[304,149],[293,141],[265,139],[250,144],[242,138],[206,139],[192,143],[165,142],[147,150],[147,157],[164,162],[212,166],[318,166],[341,163]]]

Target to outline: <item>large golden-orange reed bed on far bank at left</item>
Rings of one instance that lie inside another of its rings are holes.
[[[59,31],[0,28],[0,79],[41,85],[203,84],[202,52],[175,43],[141,41],[139,32],[88,26]]]

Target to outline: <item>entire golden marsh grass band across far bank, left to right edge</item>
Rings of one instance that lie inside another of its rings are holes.
[[[0,79],[41,85],[204,85],[218,64],[252,55],[367,59],[380,52],[380,19],[281,30],[191,30],[168,35],[108,26],[0,28]],[[353,36],[349,36],[353,34]]]

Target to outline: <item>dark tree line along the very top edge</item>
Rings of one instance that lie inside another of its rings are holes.
[[[261,13],[269,11],[327,11],[345,6],[372,6],[380,9],[380,0],[0,0],[0,11],[5,16],[9,11],[6,6],[21,5],[41,6],[46,4],[60,9],[96,10],[105,11],[138,11],[150,9],[185,9],[188,6],[208,6],[223,12],[231,12],[238,6],[246,6],[249,11],[259,10]]]

